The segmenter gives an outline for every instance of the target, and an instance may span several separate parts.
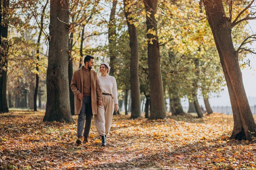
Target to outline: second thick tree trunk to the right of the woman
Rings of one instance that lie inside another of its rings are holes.
[[[147,33],[148,39],[148,76],[150,84],[151,110],[150,119],[164,119],[166,117],[164,105],[164,90],[160,68],[160,51],[157,37],[157,0],[144,0],[146,9],[147,32],[155,31],[155,34]]]

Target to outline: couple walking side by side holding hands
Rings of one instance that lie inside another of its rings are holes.
[[[108,75],[110,71],[108,63],[101,63],[99,68],[101,76],[99,77],[97,77],[96,71],[92,70],[94,57],[86,55],[84,64],[74,71],[70,84],[75,96],[75,115],[79,115],[76,144],[88,142],[92,115],[94,115],[95,125],[101,136],[101,146],[106,146],[106,135],[108,135],[112,124],[114,109],[116,111],[119,109],[117,82],[115,77]]]

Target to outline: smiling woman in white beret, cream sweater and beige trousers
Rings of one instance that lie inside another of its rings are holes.
[[[101,76],[99,79],[99,87],[102,91],[102,105],[97,106],[97,115],[94,115],[94,122],[97,127],[98,133],[101,136],[101,146],[106,146],[106,135],[110,130],[112,124],[112,116],[114,109],[119,109],[117,100],[117,82],[115,77],[109,74],[110,66],[108,63],[101,63],[99,67]]]

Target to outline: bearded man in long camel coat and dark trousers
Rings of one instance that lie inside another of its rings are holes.
[[[71,89],[75,97],[75,115],[77,120],[77,137],[76,144],[88,142],[88,136],[92,123],[92,115],[97,114],[97,103],[102,105],[101,90],[96,71],[92,70],[94,65],[94,57],[86,55],[84,66],[74,71]],[[83,125],[85,120],[85,130],[83,133]],[[83,140],[84,137],[84,140]]]

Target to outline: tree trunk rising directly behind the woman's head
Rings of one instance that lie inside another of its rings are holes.
[[[110,20],[108,23],[108,46],[110,55],[110,75],[115,75],[115,65],[116,63],[116,19],[115,13],[117,8],[117,0],[113,0],[112,9],[110,11]]]

